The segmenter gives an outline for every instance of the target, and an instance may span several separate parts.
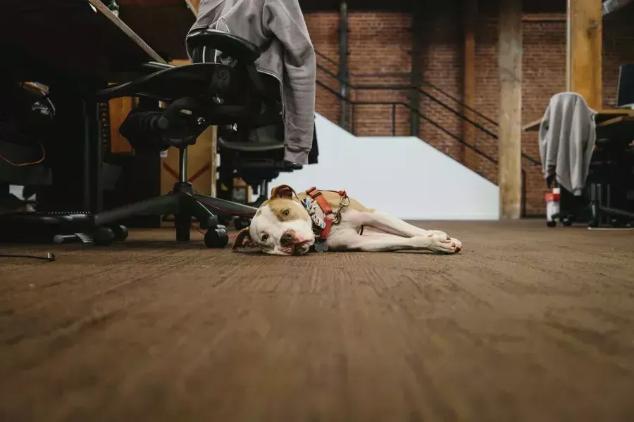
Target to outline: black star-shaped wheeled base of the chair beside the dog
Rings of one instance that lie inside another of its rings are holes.
[[[217,215],[253,217],[256,211],[256,208],[248,205],[201,195],[194,191],[192,184],[177,182],[173,190],[166,195],[123,205],[94,215],[94,224],[106,226],[137,215],[171,214],[175,217],[176,241],[188,242],[192,229],[192,217],[194,217],[198,220],[201,229],[207,230],[205,244],[209,248],[224,248],[228,244],[228,234],[225,227],[218,224]]]

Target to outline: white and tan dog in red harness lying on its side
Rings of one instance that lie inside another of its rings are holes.
[[[383,234],[362,236],[363,226]],[[271,255],[304,255],[326,250],[430,250],[455,253],[462,243],[443,231],[423,230],[401,219],[364,207],[345,191],[310,188],[295,193],[288,185],[271,190],[251,224],[235,238],[237,248],[259,248]]]

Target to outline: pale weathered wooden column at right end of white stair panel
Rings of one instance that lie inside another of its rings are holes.
[[[499,4],[498,177],[501,219],[521,217],[522,0]]]

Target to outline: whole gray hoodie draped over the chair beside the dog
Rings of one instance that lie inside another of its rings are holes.
[[[308,163],[315,118],[316,59],[298,0],[201,0],[192,30],[210,27],[259,46],[259,72],[280,83],[285,159]]]

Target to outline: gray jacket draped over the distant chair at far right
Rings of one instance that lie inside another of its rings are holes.
[[[597,139],[595,115],[582,96],[561,92],[550,98],[540,124],[540,157],[545,179],[580,196]]]

